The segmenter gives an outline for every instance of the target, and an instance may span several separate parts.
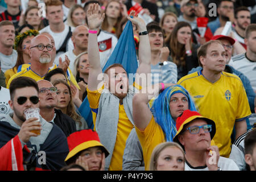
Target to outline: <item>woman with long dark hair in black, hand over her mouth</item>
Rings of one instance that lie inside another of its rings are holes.
[[[172,30],[170,48],[172,62],[177,65],[177,80],[188,74],[192,68],[198,67],[197,44],[192,42],[192,28],[187,22],[178,22]]]

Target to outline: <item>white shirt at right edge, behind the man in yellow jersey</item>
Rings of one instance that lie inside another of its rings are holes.
[[[251,61],[245,53],[232,57],[233,63],[230,63],[234,69],[240,71],[251,82],[251,87],[256,90],[256,61]]]

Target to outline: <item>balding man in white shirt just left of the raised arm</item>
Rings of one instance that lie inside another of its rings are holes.
[[[65,55],[68,56],[70,60],[69,68],[74,73],[75,71],[75,59],[80,53],[87,51],[88,47],[88,27],[84,25],[77,26],[75,30],[73,30],[71,40],[73,42],[74,48],[69,49],[67,52],[63,53],[59,57],[61,60],[65,59]],[[55,64],[59,63],[59,57],[55,59]]]

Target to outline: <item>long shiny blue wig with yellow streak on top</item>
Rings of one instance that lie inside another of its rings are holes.
[[[160,125],[166,135],[167,142],[172,142],[172,139],[177,133],[176,122],[170,113],[170,99],[175,93],[183,93],[188,99],[188,108],[192,111],[197,111],[190,94],[181,85],[170,86],[159,94],[151,107],[151,112],[154,115],[156,123]]]

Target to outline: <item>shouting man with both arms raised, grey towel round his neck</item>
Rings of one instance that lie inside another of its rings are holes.
[[[140,64],[137,69],[138,74],[135,77],[135,87],[129,87],[127,72],[121,64],[113,64],[106,69],[104,76],[108,76],[109,79],[105,80],[105,77],[103,83],[98,78],[102,75],[102,69],[97,43],[97,29],[101,26],[104,15],[98,14],[98,11],[99,6],[96,4],[91,5],[87,11],[89,26],[88,60],[90,64],[87,87],[88,101],[93,113],[94,129],[110,153],[106,158],[105,169],[122,170],[125,143],[134,127],[132,100],[137,90],[135,87],[144,86],[136,83],[139,83],[141,73],[150,73],[151,70],[150,43],[144,21],[138,17],[129,17],[128,19],[138,27],[139,32],[143,32],[139,37]]]

